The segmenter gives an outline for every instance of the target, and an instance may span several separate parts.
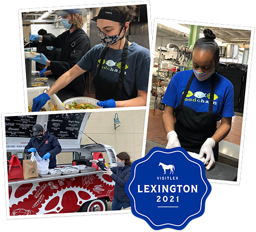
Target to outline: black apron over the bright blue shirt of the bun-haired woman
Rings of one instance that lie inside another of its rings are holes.
[[[212,137],[217,130],[217,119],[213,114],[215,74],[211,77],[212,83],[210,88],[208,112],[196,112],[183,105],[193,78],[194,73],[192,73],[189,78],[180,104],[174,110],[176,117],[175,131],[178,135],[180,146],[182,146],[187,152],[199,154],[200,148],[205,140]],[[215,160],[218,160],[219,144],[215,145],[213,152]]]

